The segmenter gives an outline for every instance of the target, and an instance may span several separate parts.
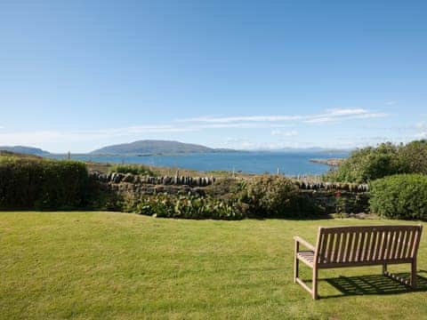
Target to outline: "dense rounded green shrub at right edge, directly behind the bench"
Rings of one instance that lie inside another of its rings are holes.
[[[398,174],[371,182],[371,212],[392,219],[427,220],[427,176]]]

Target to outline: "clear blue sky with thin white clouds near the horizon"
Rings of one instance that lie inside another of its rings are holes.
[[[4,1],[0,145],[427,139],[426,1]]]

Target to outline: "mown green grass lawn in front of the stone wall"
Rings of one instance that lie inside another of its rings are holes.
[[[320,270],[317,301],[293,282],[294,235],[314,243],[320,225],[397,223],[408,222],[3,212],[0,318],[427,319],[426,235],[416,292],[381,267]]]

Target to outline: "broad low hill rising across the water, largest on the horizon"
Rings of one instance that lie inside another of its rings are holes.
[[[117,144],[91,152],[98,155],[171,155],[189,153],[232,152],[231,149],[208,148],[205,146],[167,140],[139,140]]]

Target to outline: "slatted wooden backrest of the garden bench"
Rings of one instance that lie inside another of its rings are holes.
[[[319,228],[318,265],[409,262],[416,257],[422,226],[369,226]]]

